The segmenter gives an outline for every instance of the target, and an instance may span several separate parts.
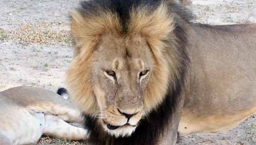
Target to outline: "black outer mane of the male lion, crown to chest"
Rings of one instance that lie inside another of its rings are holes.
[[[78,8],[84,15],[97,15],[98,9],[117,13],[123,25],[123,33],[126,33],[127,24],[129,22],[129,11],[131,7],[139,5],[148,5],[148,9],[154,10],[161,3],[161,0],[89,0],[83,1]],[[175,76],[174,80],[169,83],[169,90],[161,105],[151,111],[147,118],[141,119],[139,126],[130,137],[115,138],[103,131],[99,125],[97,118],[93,118],[88,114],[85,116],[85,127],[89,130],[90,145],[156,145],[158,139],[163,134],[164,129],[168,127],[171,115],[175,111],[179,96],[184,88],[185,76],[189,63],[186,47],[187,37],[182,22],[187,22],[192,18],[189,10],[181,5],[168,2],[170,13],[175,13],[176,28],[173,33],[177,37],[178,51],[182,54],[180,66],[178,67],[179,76]],[[168,42],[166,42],[168,43]]]

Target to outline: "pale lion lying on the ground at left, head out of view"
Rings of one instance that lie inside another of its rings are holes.
[[[15,87],[0,92],[0,145],[37,143],[42,135],[67,140],[87,139],[79,109],[55,92]]]

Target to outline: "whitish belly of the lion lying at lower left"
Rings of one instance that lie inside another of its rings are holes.
[[[36,143],[43,134],[44,114],[8,105],[0,110],[0,132],[15,145]]]

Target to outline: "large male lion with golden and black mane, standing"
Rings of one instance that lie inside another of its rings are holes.
[[[194,24],[172,0],[87,0],[71,17],[65,82],[90,145],[174,145],[256,111],[255,24]]]

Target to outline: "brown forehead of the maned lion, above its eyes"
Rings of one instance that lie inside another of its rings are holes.
[[[142,64],[152,63],[152,52],[141,36],[102,36],[98,47],[98,60],[122,64],[122,69],[135,67],[141,69]],[[137,64],[137,65],[134,65]],[[125,67],[126,66],[126,67]]]

